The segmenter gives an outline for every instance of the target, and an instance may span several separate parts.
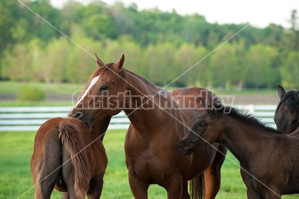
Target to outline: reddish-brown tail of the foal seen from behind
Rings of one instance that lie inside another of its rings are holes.
[[[86,148],[90,142],[90,139],[88,139],[90,136],[88,137],[89,134],[86,134],[83,130],[78,131],[78,129],[86,128],[88,133],[89,130],[86,126],[79,128],[78,125],[71,122],[67,123],[66,120],[59,126],[59,138],[62,141],[63,148],[69,153],[71,158],[70,164],[74,172],[76,196],[79,199],[85,199],[85,191],[89,188],[91,177],[90,147]],[[70,159],[66,161],[70,161]],[[68,164],[66,161],[63,165]]]

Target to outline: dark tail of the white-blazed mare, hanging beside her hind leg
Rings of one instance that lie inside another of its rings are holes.
[[[204,199],[205,186],[204,186],[204,175],[199,174],[195,178],[189,181],[190,185],[190,199]]]

